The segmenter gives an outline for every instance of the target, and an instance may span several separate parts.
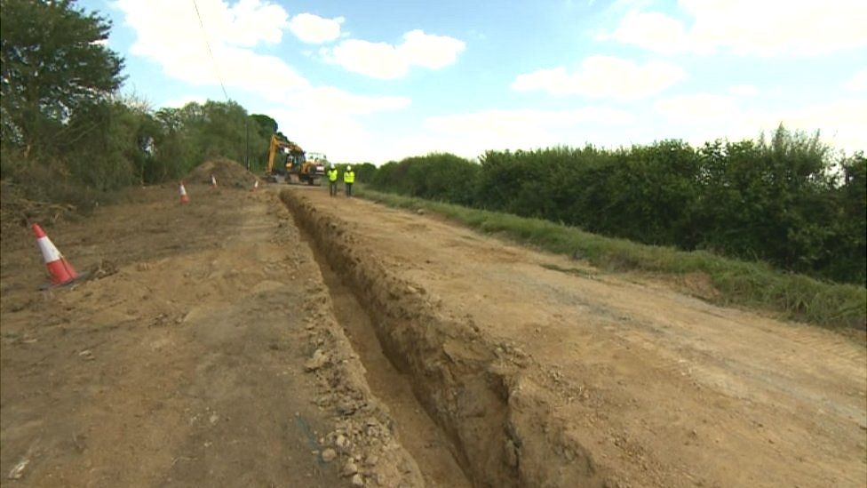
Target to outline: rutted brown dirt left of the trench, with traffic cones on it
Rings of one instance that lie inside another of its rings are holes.
[[[95,276],[51,292],[4,226],[4,485],[422,484],[286,209],[187,189],[47,227]]]

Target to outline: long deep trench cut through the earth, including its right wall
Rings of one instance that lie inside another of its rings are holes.
[[[386,371],[393,366],[411,388],[414,402],[371,384],[386,404],[392,398],[398,430],[404,421],[418,421],[400,412],[421,405],[439,427],[435,442],[441,441],[475,486],[606,486],[616,479],[566,434],[567,420],[550,415],[535,394],[537,384],[522,374],[520,357],[504,354],[482,337],[471,319],[441,313],[418,285],[395,275],[376,256],[359,252],[346,221],[318,212],[298,192],[282,190],[280,196],[314,244],[326,284],[338,297],[338,320],[372,372],[369,377],[387,382],[396,374]],[[340,298],[349,292],[353,300]],[[369,322],[354,322],[359,310]],[[388,367],[381,364],[380,348]],[[418,445],[404,445],[419,465],[425,464],[418,460]],[[438,466],[428,469],[448,463]]]

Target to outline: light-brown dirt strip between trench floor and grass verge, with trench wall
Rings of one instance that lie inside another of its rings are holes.
[[[857,340],[425,215],[282,198],[476,484],[867,484]]]

